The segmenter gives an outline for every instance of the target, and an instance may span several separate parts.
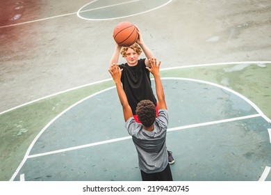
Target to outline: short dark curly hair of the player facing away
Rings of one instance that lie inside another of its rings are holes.
[[[138,120],[146,127],[151,127],[156,119],[156,107],[151,100],[141,100],[136,107]]]

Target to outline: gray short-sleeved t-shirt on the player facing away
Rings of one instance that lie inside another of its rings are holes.
[[[158,173],[168,164],[165,138],[167,135],[168,114],[166,109],[158,111],[158,117],[154,122],[154,130],[144,130],[142,124],[136,123],[131,117],[125,127],[133,138],[133,143],[138,151],[139,169],[145,173]]]

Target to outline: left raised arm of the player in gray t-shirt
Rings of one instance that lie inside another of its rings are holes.
[[[119,96],[120,103],[122,104],[124,120],[126,122],[126,120],[128,120],[130,117],[133,116],[133,113],[129,105],[129,102],[127,100],[126,94],[122,88],[122,82],[120,80],[120,78],[122,77],[122,70],[120,70],[120,67],[117,64],[113,63],[112,65],[110,65],[110,68],[108,71],[110,72],[110,75],[115,81],[115,85],[117,88],[117,95]]]

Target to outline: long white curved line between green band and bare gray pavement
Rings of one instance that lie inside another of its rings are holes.
[[[199,67],[205,67],[205,66],[207,67],[207,66],[219,66],[219,65],[233,65],[233,64],[243,64],[243,63],[251,63],[251,64],[253,64],[253,63],[271,63],[271,61],[245,61],[245,62],[229,62],[229,63],[206,63],[206,64],[200,64],[200,65],[183,65],[183,66],[176,66],[176,67],[172,67],[172,68],[161,68],[161,71],[163,71],[163,70],[174,70],[174,69],[179,69],[179,68],[180,69],[181,68],[199,68]],[[179,78],[181,78],[181,77],[179,77]],[[163,77],[161,79],[163,79]],[[76,89],[79,89],[79,88],[83,88],[83,87],[86,87],[86,86],[91,86],[91,85],[94,85],[94,84],[101,84],[103,82],[110,81],[110,80],[113,80],[113,79],[110,78],[110,79],[103,79],[101,81],[94,81],[94,82],[92,82],[90,84],[84,84],[84,85],[81,85],[81,86],[76,86],[74,88],[69,88],[69,89],[67,89],[65,91],[60,91],[58,93],[53,93],[51,95],[46,95],[46,96],[44,96],[42,98],[38,98],[38,99],[32,100],[30,102],[26,102],[24,104],[20,104],[17,107],[13,107],[13,108],[7,109],[6,111],[1,111],[0,112],[0,116],[1,116],[1,114],[5,114],[8,111],[13,111],[13,110],[18,109],[20,107],[24,107],[24,106],[26,106],[28,104],[32,104],[32,103],[38,102],[40,100],[51,98],[51,97],[53,97],[55,95],[60,95],[62,93],[73,91],[73,90],[76,90]],[[271,120],[270,120],[270,123],[271,123]]]

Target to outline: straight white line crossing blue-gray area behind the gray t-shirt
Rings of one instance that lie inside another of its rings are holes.
[[[181,126],[181,127],[174,127],[174,128],[169,128],[167,129],[167,132],[171,132],[171,131],[176,131],[176,130],[185,130],[188,128],[193,128],[193,127],[202,127],[202,126],[206,126],[206,125],[215,125],[215,124],[219,124],[219,123],[228,123],[228,122],[232,122],[232,121],[236,121],[236,120],[243,120],[243,119],[247,119],[247,118],[256,118],[261,116],[261,114],[253,114],[253,115],[249,115],[249,116],[241,116],[241,117],[236,117],[236,118],[228,118],[228,119],[224,119],[224,120],[215,120],[215,121],[211,121],[211,122],[207,122],[207,123],[198,123],[198,124],[193,124],[193,125],[185,125],[185,126]],[[99,142],[95,142],[95,143],[88,143],[85,145],[81,145],[81,146],[75,146],[75,147],[71,147],[71,148],[65,148],[65,149],[61,149],[61,150],[54,150],[51,152],[47,152],[47,153],[40,153],[40,154],[36,154],[36,155],[29,155],[27,158],[33,158],[33,157],[41,157],[41,156],[45,156],[45,155],[53,155],[56,153],[63,153],[63,152],[67,152],[70,150],[77,150],[77,149],[81,149],[81,148],[88,148],[91,146],[99,146],[105,143],[113,143],[116,141],[123,141],[126,139],[131,139],[131,136],[129,137],[121,137],[121,138],[117,138],[117,139],[109,139],[106,141],[99,141]]]

